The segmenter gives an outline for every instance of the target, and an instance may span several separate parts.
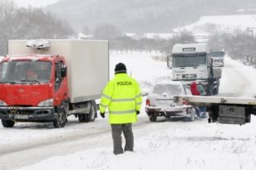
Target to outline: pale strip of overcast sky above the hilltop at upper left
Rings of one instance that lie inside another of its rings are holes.
[[[0,0],[1,1],[1,0]],[[18,7],[45,7],[47,5],[50,5],[54,2],[57,2],[58,0],[12,0],[16,2]]]

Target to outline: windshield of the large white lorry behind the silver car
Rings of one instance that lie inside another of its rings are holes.
[[[207,65],[206,54],[172,56],[172,67],[194,67],[199,65]]]

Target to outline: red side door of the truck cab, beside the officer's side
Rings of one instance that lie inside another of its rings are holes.
[[[62,76],[63,60],[57,60],[55,63],[55,79],[54,79],[54,100],[57,105],[61,105],[65,101],[68,94],[67,78]]]

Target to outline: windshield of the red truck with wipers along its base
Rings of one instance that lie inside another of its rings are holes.
[[[0,83],[48,83],[52,63],[39,60],[11,60],[0,63]]]

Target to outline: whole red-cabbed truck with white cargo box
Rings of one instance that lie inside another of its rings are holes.
[[[95,40],[10,40],[0,62],[0,119],[53,122],[67,116],[80,122],[97,117],[95,100],[109,78],[108,42]]]

